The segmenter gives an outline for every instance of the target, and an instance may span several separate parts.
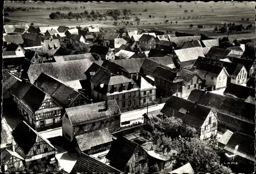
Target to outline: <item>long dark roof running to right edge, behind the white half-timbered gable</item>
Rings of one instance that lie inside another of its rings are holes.
[[[198,102],[235,119],[255,123],[255,104],[247,103],[242,99],[209,92],[205,94],[204,91],[195,89],[190,92],[188,100]]]

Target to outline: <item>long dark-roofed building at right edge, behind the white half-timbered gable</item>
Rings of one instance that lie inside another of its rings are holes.
[[[210,107],[214,111],[218,119],[218,132],[221,134],[229,129],[254,136],[255,104],[197,89],[191,91],[188,100]]]

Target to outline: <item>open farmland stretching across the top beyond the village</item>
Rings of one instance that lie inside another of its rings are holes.
[[[179,5],[182,5],[180,8]],[[156,2],[156,3],[115,3],[115,2],[101,2],[96,3],[78,3],[78,4],[71,4],[65,2],[46,2],[43,5],[35,4],[20,4],[16,2],[5,2],[4,7],[23,7],[23,8],[30,8],[30,7],[78,7],[77,10],[71,10],[72,12],[80,13],[84,10],[80,9],[80,6],[85,6],[87,11],[99,11],[100,13],[104,13],[106,10],[110,9],[118,9],[123,10],[124,8],[131,9],[132,13],[135,13],[141,19],[140,25],[135,24],[135,16],[130,15],[131,19],[130,22],[133,21],[134,25],[127,25],[126,28],[135,29],[135,28],[143,28],[143,29],[150,29],[153,26],[156,26],[159,29],[166,30],[172,29],[173,31],[187,31],[187,32],[197,32],[198,28],[197,25],[205,26],[204,29],[201,29],[198,32],[209,32],[214,30],[216,26],[220,26],[224,23],[235,23],[236,25],[242,24],[243,26],[247,26],[249,24],[254,25],[254,14],[255,14],[255,3],[254,2],[191,2],[191,3],[176,3],[176,2]],[[144,9],[147,9],[147,12],[143,12]],[[185,13],[184,10],[188,12]],[[191,12],[193,10],[193,12]],[[213,12],[212,12],[213,10]],[[50,19],[49,14],[51,12],[56,12],[56,10],[46,11],[46,10],[29,10],[26,12],[17,11],[17,12],[8,12],[9,16],[7,17],[10,19],[9,24],[30,24],[34,23],[37,26],[60,26],[60,25],[67,25],[67,26],[88,26],[88,25],[95,25],[99,27],[115,27],[113,25],[113,20],[108,20],[100,22],[99,20],[95,20],[94,22],[88,22],[86,19]],[[68,13],[69,11],[60,11],[62,13]],[[140,15],[141,14],[141,15]],[[155,16],[154,18],[148,17],[148,15]],[[166,15],[166,19],[168,23],[165,24],[164,15]],[[190,18],[187,18],[190,16]],[[185,17],[185,18],[184,18]],[[192,18],[194,17],[194,18]],[[241,18],[245,18],[245,20],[241,20]],[[246,20],[249,18],[249,20]],[[122,23],[122,20],[118,20],[117,27],[125,26]],[[127,20],[124,20],[127,21]],[[172,21],[172,24],[170,24]],[[176,24],[177,21],[177,24]],[[120,23],[120,25],[119,25]],[[189,25],[193,24],[193,29],[189,29]],[[211,35],[211,34],[210,34]]]

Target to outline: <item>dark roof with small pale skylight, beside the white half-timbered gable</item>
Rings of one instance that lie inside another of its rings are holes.
[[[180,112],[181,110],[182,112]],[[177,96],[172,96],[165,102],[161,113],[172,116],[172,111],[176,111],[175,116],[181,118],[182,121],[196,127],[201,127],[206,117],[209,115],[211,108]]]

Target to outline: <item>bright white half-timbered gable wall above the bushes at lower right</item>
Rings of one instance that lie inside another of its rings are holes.
[[[209,122],[210,121],[210,122]],[[210,138],[211,135],[217,135],[218,120],[215,114],[210,111],[209,115],[206,117],[203,125],[201,126],[200,139]]]

